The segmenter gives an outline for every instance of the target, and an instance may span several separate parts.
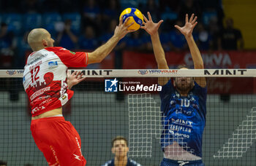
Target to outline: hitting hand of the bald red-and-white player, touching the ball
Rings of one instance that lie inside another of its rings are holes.
[[[119,20],[119,24],[118,26],[116,26],[114,35],[116,35],[118,37],[118,39],[122,39],[124,36],[127,35],[127,33],[129,32],[134,32],[135,30],[128,30],[127,28],[129,28],[133,23],[130,23],[129,25],[127,25],[127,22],[130,18],[128,17],[124,23],[123,23],[123,15],[121,15],[120,20]]]

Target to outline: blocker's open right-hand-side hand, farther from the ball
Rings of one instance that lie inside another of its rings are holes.
[[[178,31],[181,31],[182,34],[184,34],[185,37],[192,36],[192,31],[195,28],[195,25],[197,25],[197,16],[192,14],[192,16],[189,18],[189,15],[186,15],[186,23],[183,27],[180,27],[178,25],[174,25],[175,28],[178,29]]]

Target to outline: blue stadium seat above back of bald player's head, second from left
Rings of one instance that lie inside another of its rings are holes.
[[[38,13],[23,15],[23,27],[25,31],[30,31],[34,28],[42,28],[42,15]]]

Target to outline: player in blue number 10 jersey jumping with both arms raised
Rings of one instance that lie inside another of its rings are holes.
[[[165,52],[159,40],[158,28],[163,22],[154,23],[148,12],[148,19],[144,16],[145,29],[151,35],[154,56],[159,69],[169,69],[165,59]],[[175,25],[187,40],[194,66],[203,68],[203,59],[195,44],[192,31],[197,25],[197,17],[186,15],[183,27]],[[180,69],[187,69],[182,66]],[[204,165],[202,162],[202,136],[206,125],[206,78],[177,77],[173,79],[163,77],[158,79],[162,85],[161,111],[163,131],[161,146],[164,159],[161,166]]]

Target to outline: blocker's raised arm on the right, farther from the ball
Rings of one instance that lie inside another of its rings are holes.
[[[195,69],[203,69],[203,58],[200,54],[200,51],[197,47],[197,44],[195,44],[195,40],[192,36],[192,31],[195,28],[195,25],[197,25],[197,17],[194,14],[189,18],[189,15],[186,15],[186,23],[183,27],[180,27],[178,25],[174,25],[178,31],[181,31],[181,33],[185,36],[187,40],[187,44],[189,45],[189,50],[192,55],[192,60],[194,63]],[[205,77],[195,77],[195,82],[199,84],[201,87],[206,87],[206,78]]]

